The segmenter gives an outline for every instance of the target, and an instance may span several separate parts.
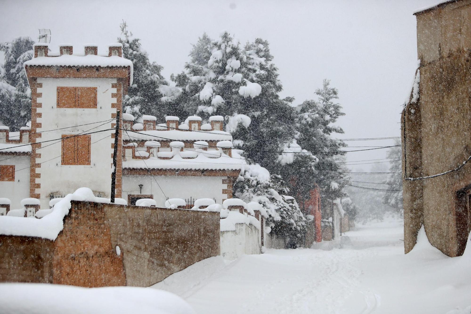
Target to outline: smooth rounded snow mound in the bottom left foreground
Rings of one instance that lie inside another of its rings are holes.
[[[3,314],[195,314],[185,300],[173,293],[139,287],[2,283],[0,304]]]

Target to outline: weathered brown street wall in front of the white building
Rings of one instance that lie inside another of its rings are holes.
[[[219,255],[219,213],[72,202],[55,241],[0,244],[0,282],[146,287]]]

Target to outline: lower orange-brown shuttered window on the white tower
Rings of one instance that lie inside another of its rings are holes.
[[[90,135],[62,134],[62,165],[90,165]]]

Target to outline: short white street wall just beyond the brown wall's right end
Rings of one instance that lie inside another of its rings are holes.
[[[244,254],[260,254],[260,230],[252,224],[236,223],[235,231],[221,231],[221,255],[234,260]]]

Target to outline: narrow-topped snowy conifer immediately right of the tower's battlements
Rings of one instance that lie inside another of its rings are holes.
[[[173,114],[175,107],[171,103],[178,95],[179,89],[172,88],[163,78],[162,66],[151,62],[141,42],[128,30],[126,22],[120,25],[122,54],[133,64],[133,84],[123,99],[126,112],[140,117],[143,114],[157,116],[163,120],[164,115]]]

